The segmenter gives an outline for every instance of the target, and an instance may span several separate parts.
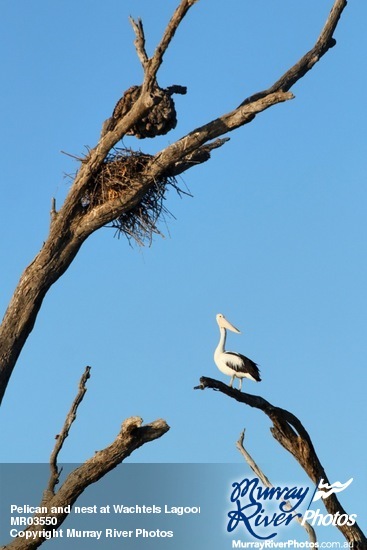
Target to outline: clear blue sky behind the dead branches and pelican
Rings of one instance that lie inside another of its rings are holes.
[[[148,0],[3,2],[2,311],[47,236],[51,198],[62,204],[78,167],[61,151],[92,147],[123,91],[141,82],[128,16],[143,18],[151,53],[177,3],[158,13]],[[162,86],[188,87],[176,96],[177,128],[124,145],[154,154],[270,86],[313,46],[331,4],[201,0],[159,73]],[[164,239],[131,247],[102,229],[85,243],[15,369],[2,462],[48,460],[89,364],[65,462],[109,444],[128,416],[163,417],[170,432],[129,461],[240,463],[246,427],[271,480],[307,483],[259,411],[193,391],[202,375],[226,381],[212,358],[221,312],[242,331],[228,348],[261,368],[261,384],[244,391],[300,418],[332,481],[354,478],[341,501],[366,528],[366,16],[364,3],[350,2],[337,46],[293,88],[296,98],[181,176],[193,198],[169,191]]]

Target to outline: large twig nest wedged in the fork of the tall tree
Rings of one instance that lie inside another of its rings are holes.
[[[124,200],[124,195],[132,187],[131,182],[136,185],[151,159],[151,155],[140,151],[114,149],[94,176],[90,190],[83,198],[83,208],[90,211],[118,197]],[[129,241],[135,240],[139,245],[151,244],[153,234],[162,235],[157,228],[158,220],[172,215],[164,206],[167,186],[173,187],[179,194],[184,193],[174,177],[161,176],[135,207],[119,215],[107,227],[114,228],[117,237],[125,235]]]

